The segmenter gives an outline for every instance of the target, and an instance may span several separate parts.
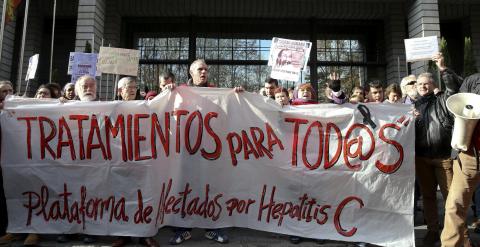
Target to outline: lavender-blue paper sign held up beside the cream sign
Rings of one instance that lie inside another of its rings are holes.
[[[96,53],[70,52],[68,70],[71,82],[83,75],[97,76],[97,56]]]

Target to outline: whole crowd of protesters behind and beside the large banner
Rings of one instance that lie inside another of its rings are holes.
[[[415,172],[416,189],[414,199],[414,215],[417,210],[417,200],[421,194],[423,200],[423,215],[427,225],[427,234],[423,239],[424,246],[435,246],[441,241],[442,246],[473,246],[466,228],[467,209],[472,201],[475,188],[480,182],[478,171],[478,155],[476,150],[480,148],[479,131],[475,132],[472,145],[466,152],[456,152],[450,146],[454,117],[446,107],[446,99],[458,92],[470,92],[480,94],[480,74],[472,75],[465,80],[455,74],[444,64],[441,53],[432,57],[445,88],[439,90],[434,76],[431,73],[422,73],[418,76],[409,75],[399,83],[391,83],[386,88],[381,81],[374,80],[366,87],[356,86],[350,92],[342,89],[340,76],[332,73],[329,76],[325,97],[328,102],[334,104],[409,104],[412,106],[415,116]],[[191,79],[182,85],[177,85],[175,75],[171,72],[163,72],[159,76],[157,91],[149,91],[146,95],[139,94],[136,79],[124,77],[118,82],[118,100],[151,100],[164,90],[175,90],[177,86],[188,87],[214,87],[208,82],[208,66],[202,59],[194,61],[189,69]],[[58,98],[60,101],[97,100],[97,83],[94,77],[85,75],[76,83],[67,83],[63,89],[55,84],[40,85],[35,98]],[[236,92],[242,92],[243,88],[235,88]],[[268,97],[278,104],[285,105],[311,105],[318,104],[317,92],[310,83],[302,83],[295,88],[283,88],[278,80],[267,78],[260,94]],[[0,81],[0,102],[9,94],[13,94],[13,86],[9,81]],[[477,128],[479,129],[479,128]],[[445,205],[445,220],[442,231],[441,220],[437,208],[437,187],[440,187]],[[1,190],[3,193],[3,190]],[[477,190],[475,203],[480,212],[480,190]],[[1,227],[6,228],[5,197],[0,195]],[[480,213],[477,214],[480,217]],[[479,221],[480,222],[480,221]],[[480,232],[480,223],[478,232]],[[169,244],[181,244],[191,238],[190,228],[173,228],[174,233]],[[20,235],[6,233],[0,238],[0,244],[18,240]],[[206,229],[205,237],[219,243],[228,242],[228,236],[222,229]],[[69,241],[70,236],[58,236],[58,242]],[[95,242],[94,236],[83,235],[85,243]],[[124,246],[131,240],[129,237],[115,238],[112,246]],[[25,245],[37,245],[40,239],[36,234],[28,234],[24,241]],[[292,243],[302,241],[300,237],[290,236]],[[141,238],[140,243],[146,246],[158,246],[153,237]],[[365,243],[357,243],[365,246]]]

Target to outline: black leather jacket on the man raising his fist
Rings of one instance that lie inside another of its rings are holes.
[[[453,115],[448,111],[446,100],[456,94],[462,78],[447,69],[441,73],[445,83],[445,92],[420,96],[415,109],[420,116],[415,118],[416,155],[431,158],[448,158],[452,148]]]

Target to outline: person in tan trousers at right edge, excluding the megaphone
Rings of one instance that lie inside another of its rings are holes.
[[[465,78],[460,92],[480,94],[480,73]],[[467,234],[466,217],[472,194],[480,182],[479,151],[480,124],[477,123],[468,150],[453,152],[452,155],[453,179],[445,203],[445,221],[441,235],[444,247],[473,246]]]

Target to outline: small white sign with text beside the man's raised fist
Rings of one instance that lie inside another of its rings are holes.
[[[405,39],[407,62],[430,60],[438,52],[437,36]]]

